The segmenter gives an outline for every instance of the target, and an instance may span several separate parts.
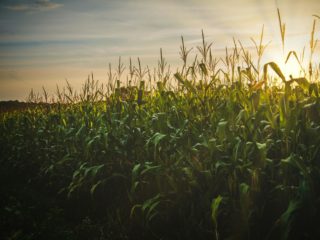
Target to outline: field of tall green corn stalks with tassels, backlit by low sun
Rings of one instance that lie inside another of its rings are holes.
[[[280,20],[281,22],[281,20]],[[281,33],[284,30],[280,24]],[[320,239],[320,85],[205,41],[0,115],[1,239]]]

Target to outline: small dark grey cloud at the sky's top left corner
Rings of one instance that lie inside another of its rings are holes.
[[[50,0],[35,0],[29,3],[19,3],[14,5],[9,5],[6,8],[11,11],[20,12],[34,12],[34,11],[48,11],[56,8],[62,7],[63,4],[54,3]]]

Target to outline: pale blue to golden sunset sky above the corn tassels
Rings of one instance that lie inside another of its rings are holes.
[[[252,47],[250,37],[258,40],[264,25],[272,41],[267,57],[278,59],[277,8],[287,51],[301,50],[312,15],[320,15],[319,0],[1,0],[0,101],[25,100],[42,86],[54,93],[66,79],[79,88],[91,73],[105,81],[108,64],[115,68],[119,56],[125,64],[139,57],[143,66],[155,66],[162,48],[177,66],[180,37],[195,52],[202,29],[222,56],[233,37]]]

